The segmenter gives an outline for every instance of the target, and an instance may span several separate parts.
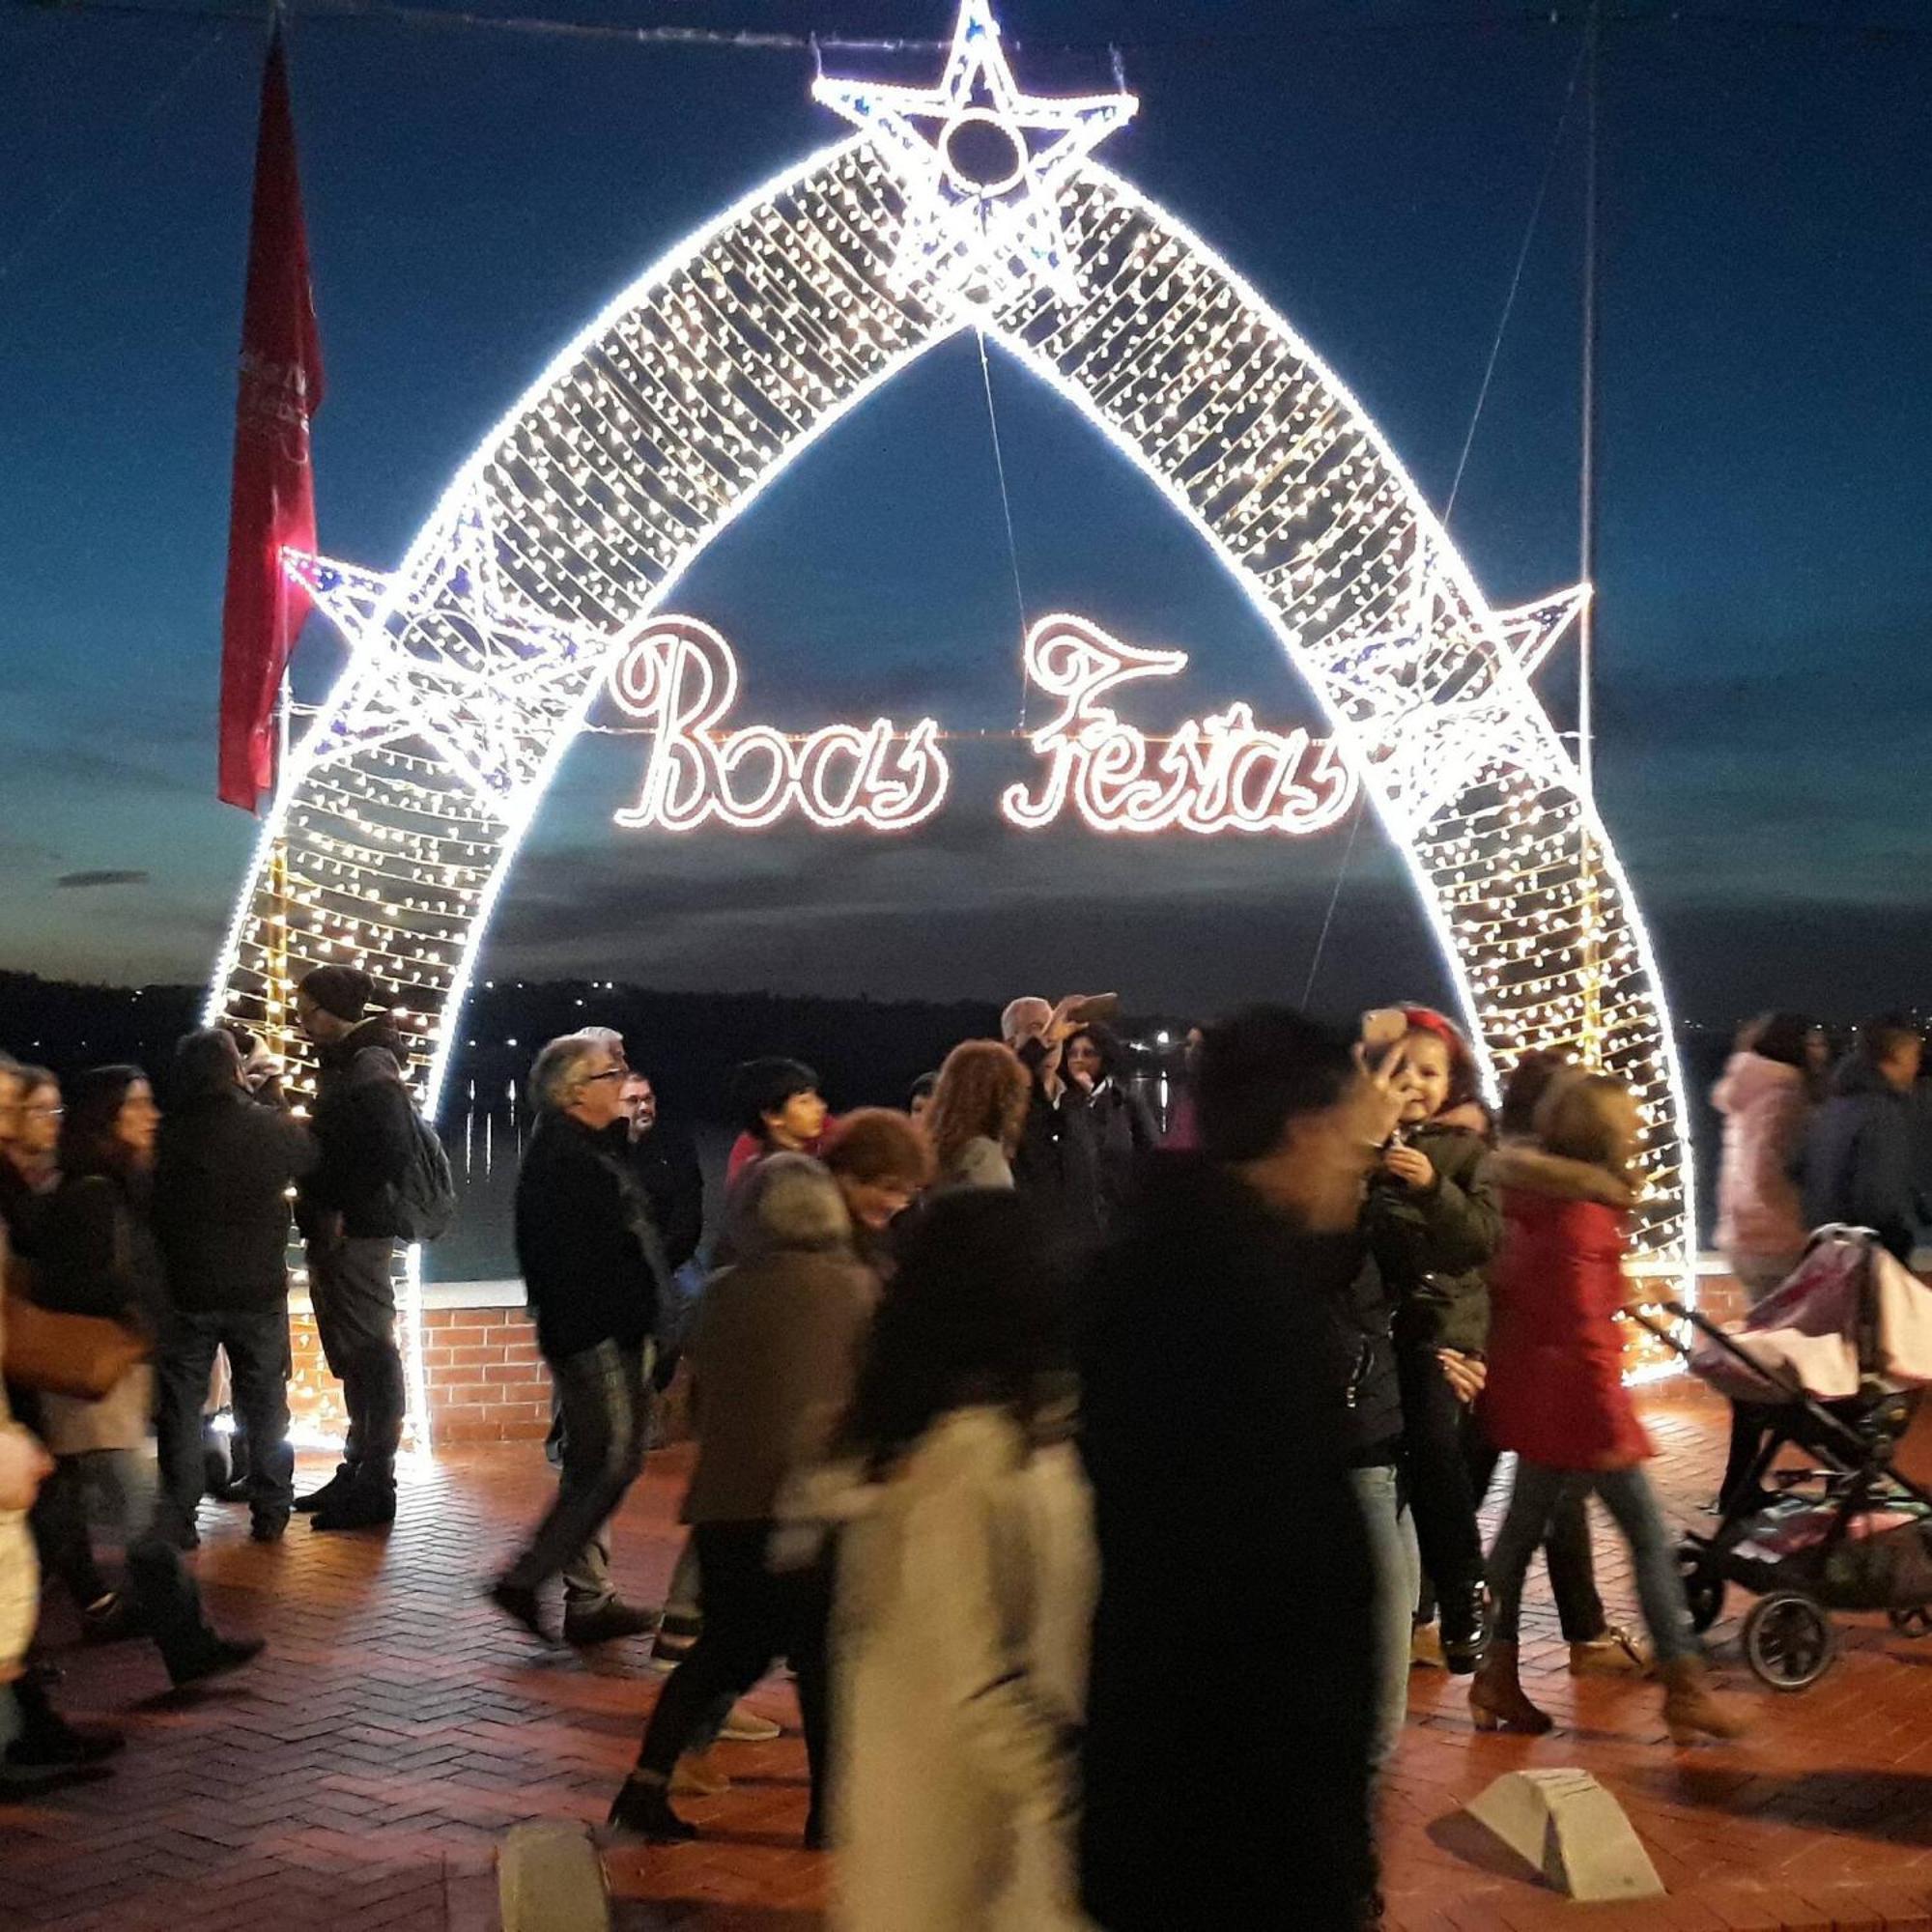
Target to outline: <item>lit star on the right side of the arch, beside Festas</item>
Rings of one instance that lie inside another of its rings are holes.
[[[1362,767],[1410,833],[1484,767],[1509,763],[1542,784],[1575,782],[1561,748],[1536,724],[1526,680],[1588,601],[1590,585],[1578,583],[1520,609],[1482,609],[1472,622],[1432,547],[1418,543],[1405,614],[1316,647]],[[1472,651],[1484,634],[1490,649]]]

